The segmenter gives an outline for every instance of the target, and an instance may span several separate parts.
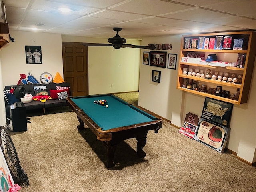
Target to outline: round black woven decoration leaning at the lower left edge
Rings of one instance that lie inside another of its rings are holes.
[[[28,187],[28,176],[20,166],[20,160],[14,147],[14,143],[12,142],[12,138],[4,126],[0,127],[0,134],[1,148],[14,182],[21,187]]]

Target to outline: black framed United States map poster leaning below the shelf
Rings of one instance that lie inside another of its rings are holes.
[[[229,126],[232,109],[231,103],[206,97],[201,117],[219,125]]]

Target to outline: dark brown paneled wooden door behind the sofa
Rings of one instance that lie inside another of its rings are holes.
[[[88,47],[62,42],[64,81],[70,83],[72,96],[88,95]]]

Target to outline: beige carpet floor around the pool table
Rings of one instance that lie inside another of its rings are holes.
[[[118,95],[120,96],[120,95]],[[123,97],[125,98],[125,97]],[[12,133],[30,186],[20,192],[253,192],[256,167],[178,133],[163,121],[149,131],[145,158],[135,138],[118,144],[106,168],[102,142],[74,112],[31,116],[28,131]]]

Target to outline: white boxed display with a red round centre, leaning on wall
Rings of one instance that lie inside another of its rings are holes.
[[[194,139],[222,153],[224,152],[229,135],[230,128],[220,126],[202,118],[196,129]]]

